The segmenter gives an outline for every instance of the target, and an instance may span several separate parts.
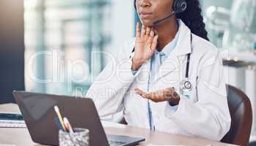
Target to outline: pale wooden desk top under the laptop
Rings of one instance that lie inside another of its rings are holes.
[[[18,106],[16,104],[0,104],[0,112],[20,112],[20,110],[18,109]],[[119,123],[109,123],[105,121],[103,121],[102,123],[106,134],[128,135],[131,137],[145,137],[146,141],[140,143],[139,146],[146,146],[147,144],[231,146],[221,142],[212,142],[205,139],[196,139],[157,131],[153,132],[148,129],[125,126]],[[18,146],[40,146],[39,144],[32,142],[32,139],[29,136],[29,131],[26,128],[0,128],[0,144]]]

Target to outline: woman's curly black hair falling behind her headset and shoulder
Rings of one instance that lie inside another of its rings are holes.
[[[175,1],[175,0],[174,0]],[[177,1],[177,0],[176,0]],[[202,9],[199,0],[187,0],[187,7],[184,12],[176,14],[178,19],[183,20],[183,23],[189,27],[193,34],[196,34],[203,39],[208,39],[208,32],[205,29],[205,23],[202,18]],[[134,0],[134,7],[136,9],[136,0]]]

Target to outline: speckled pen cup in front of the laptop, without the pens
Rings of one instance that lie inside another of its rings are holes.
[[[59,131],[59,146],[89,146],[89,130],[74,128],[74,133]]]

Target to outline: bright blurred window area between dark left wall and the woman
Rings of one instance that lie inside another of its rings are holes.
[[[86,93],[118,46],[134,35],[131,1],[25,0],[24,9],[28,91]]]

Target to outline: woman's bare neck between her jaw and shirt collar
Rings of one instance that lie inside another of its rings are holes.
[[[176,17],[172,17],[164,23],[160,23],[154,26],[156,34],[158,34],[158,51],[164,49],[164,47],[175,38],[178,32],[178,23]]]

